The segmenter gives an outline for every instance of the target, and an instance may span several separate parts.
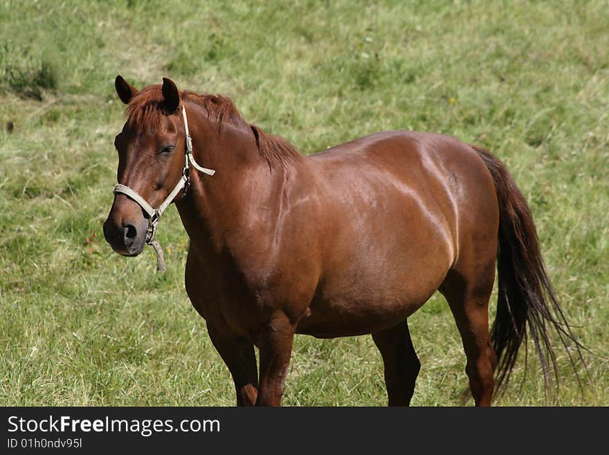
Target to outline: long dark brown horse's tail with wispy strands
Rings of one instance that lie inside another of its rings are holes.
[[[568,345],[575,346],[576,355],[582,362],[580,348],[583,346],[575,339],[558,305],[543,265],[535,224],[525,197],[499,159],[486,150],[475,146],[474,149],[493,177],[499,202],[499,289],[497,314],[491,330],[491,340],[498,358],[498,388],[509,382],[518,348],[522,341],[526,346],[527,337],[533,339],[543,368],[546,389],[554,378],[558,386],[556,354],[550,344],[548,328],[554,328],[558,333],[576,375],[574,358]],[[577,377],[579,381],[579,375]]]

